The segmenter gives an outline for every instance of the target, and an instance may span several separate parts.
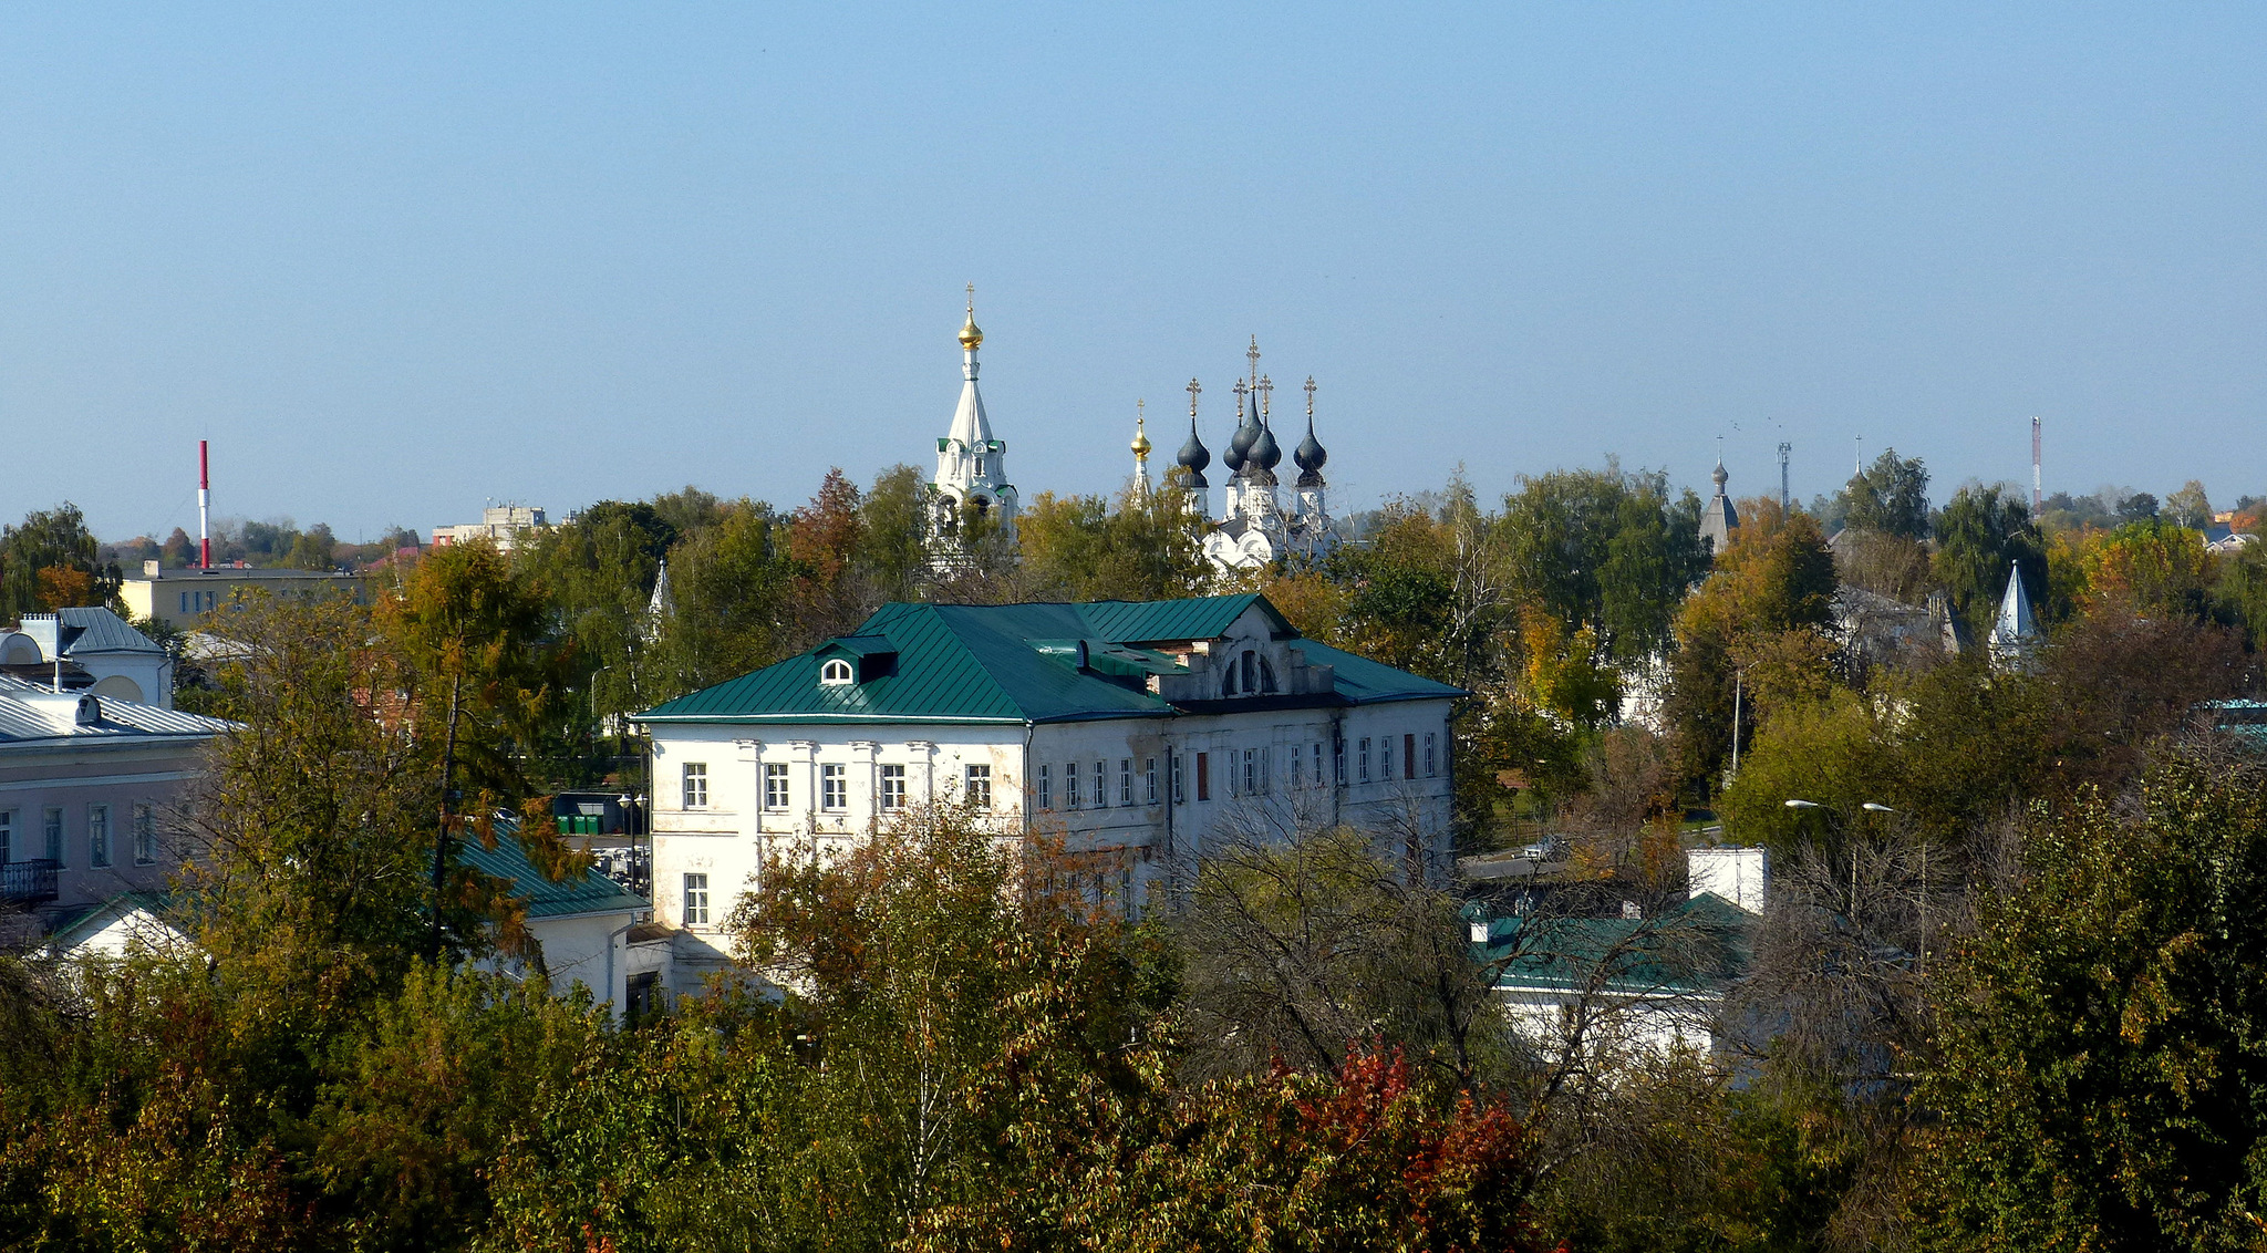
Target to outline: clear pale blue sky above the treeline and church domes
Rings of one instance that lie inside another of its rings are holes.
[[[1344,505],[1662,467],[2267,494],[2256,5],[0,14],[0,512],[469,521],[1226,435]],[[1734,426],[1737,424],[1737,426]]]

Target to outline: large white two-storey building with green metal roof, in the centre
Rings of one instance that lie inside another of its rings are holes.
[[[1458,696],[1301,639],[1263,596],[884,605],[642,716],[671,983],[723,963],[766,859],[848,850],[927,802],[1113,854],[1097,886],[1134,906],[1217,841],[1335,822],[1444,875]]]

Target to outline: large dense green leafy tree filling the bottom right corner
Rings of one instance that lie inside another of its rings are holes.
[[[1950,1248],[2256,1248],[2267,807],[2176,761],[2031,838],[1938,997],[1916,1156]]]

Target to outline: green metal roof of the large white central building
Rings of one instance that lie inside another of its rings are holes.
[[[1301,639],[1265,596],[1093,600],[1079,605],[923,605],[875,610],[855,632],[648,709],[648,723],[1075,723],[1172,718],[1147,675],[1186,673],[1156,646],[1220,639],[1249,610],[1274,639],[1331,666],[1335,691],[1308,705],[1446,700],[1464,689]],[[859,682],[821,684],[843,659]],[[1276,707],[1283,707],[1279,700]],[[1211,709],[1208,709],[1211,711]]]

